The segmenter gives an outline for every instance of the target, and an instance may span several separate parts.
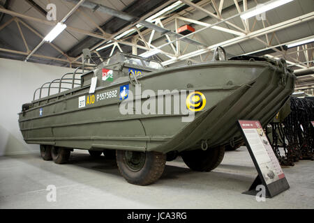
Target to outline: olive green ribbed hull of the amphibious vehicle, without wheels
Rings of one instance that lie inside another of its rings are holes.
[[[83,108],[78,108],[78,98],[88,97],[88,88],[33,101],[32,109],[19,114],[24,140],[29,144],[68,148],[163,153],[200,148],[202,140],[207,140],[209,146],[229,144],[241,138],[237,120],[259,120],[266,125],[294,88],[294,75],[283,75],[281,68],[267,62],[248,61],[168,68],[139,77],[138,81],[142,91],[151,89],[156,94],[165,89],[200,91],[207,100],[206,106],[195,112],[191,122],[183,122],[184,115],[174,114],[173,105],[171,114],[122,115],[120,86],[129,84],[130,91],[135,93],[135,86],[125,77],[98,87],[93,94],[95,102]],[[116,90],[117,97],[97,100],[97,95]],[[142,96],[142,103],[145,101],[147,97]]]

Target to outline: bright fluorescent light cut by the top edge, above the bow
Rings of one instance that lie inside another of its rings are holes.
[[[255,15],[260,15],[268,10],[271,10],[273,8],[277,8],[278,6],[282,6],[285,3],[288,3],[293,0],[272,0],[267,1],[267,3],[262,3],[260,6],[256,6],[255,8],[252,8],[250,10],[247,10],[245,13],[242,13],[240,15],[242,20],[247,20],[248,18],[251,18]]]

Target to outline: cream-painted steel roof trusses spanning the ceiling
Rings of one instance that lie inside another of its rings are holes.
[[[241,42],[246,41],[246,40],[255,39],[258,42],[262,43],[264,45],[264,48],[260,49],[258,51],[255,51],[255,52],[248,52],[246,54],[254,54],[257,52],[262,52],[263,50],[266,50],[266,49],[273,49],[276,52],[276,55],[275,56],[269,55],[269,54],[267,54],[267,55],[270,57],[275,57],[275,58],[278,56],[285,58],[287,60],[289,67],[297,68],[297,69],[295,69],[296,73],[304,72],[306,70],[313,71],[313,73],[314,73],[314,70],[313,70],[313,57],[314,57],[313,45],[311,45],[311,44],[301,45],[299,47],[296,47],[296,50],[294,50],[292,52],[290,52],[290,51],[287,52],[287,50],[283,49],[283,45],[285,45],[287,43],[280,43],[280,41],[276,35],[276,31],[279,31],[281,29],[287,29],[290,26],[294,26],[297,24],[301,24],[302,22],[307,22],[307,21],[313,20],[314,19],[314,12],[308,13],[306,15],[302,15],[299,17],[295,17],[291,20],[287,20],[287,21],[284,21],[284,22],[281,22],[278,24],[274,24],[274,25],[269,24],[268,21],[262,21],[263,28],[255,30],[255,27],[256,27],[255,24],[257,23],[256,18],[253,21],[253,24],[250,24],[248,22],[248,20],[241,20],[241,23],[242,23],[241,26],[238,26],[232,22],[233,18],[239,17],[239,15],[241,15],[241,13],[244,13],[244,12],[246,12],[246,10],[249,10],[247,0],[244,0],[241,3],[241,6],[239,5],[239,1],[234,0],[234,8],[237,8],[238,14],[232,15],[231,17],[227,17],[227,18],[224,18],[222,15],[224,3],[225,3],[224,0],[211,0],[211,1],[210,0],[202,0],[202,1],[199,1],[197,3],[193,3],[189,0],[181,0],[181,1],[184,4],[186,4],[186,6],[188,6],[188,8],[186,8],[185,10],[182,10],[179,13],[171,13],[170,15],[167,15],[166,17],[158,17],[154,20],[154,22],[147,25],[147,21],[145,21],[145,20],[147,20],[148,17],[150,17],[151,15],[154,15],[155,13],[158,13],[158,11],[160,11],[161,9],[163,9],[166,6],[169,6],[170,4],[175,2],[174,0],[168,1],[167,3],[163,3],[163,5],[152,10],[151,12],[147,13],[146,15],[139,17],[139,18],[136,18],[135,22],[129,24],[124,29],[121,29],[120,31],[118,31],[117,33],[114,33],[114,34],[106,33],[103,29],[100,28],[100,26],[98,26],[96,24],[96,22],[91,20],[91,18],[86,13],[84,13],[83,10],[81,10],[79,8],[80,6],[82,7],[83,4],[86,4],[89,1],[83,1],[83,0],[77,1],[77,4],[73,8],[73,10],[70,10],[68,15],[66,15],[66,17],[63,18],[62,21],[65,22],[66,18],[68,16],[77,12],[77,13],[82,14],[87,20],[89,20],[91,22],[91,24],[96,26],[96,28],[100,31],[100,33],[86,31],[84,29],[79,29],[79,28],[72,27],[72,26],[67,26],[66,29],[68,31],[73,31],[76,33],[80,33],[80,34],[87,35],[87,36],[92,36],[94,38],[99,38],[100,40],[103,40],[98,45],[91,47],[91,51],[98,54],[98,56],[100,56],[100,53],[96,49],[98,49],[100,47],[102,49],[105,49],[105,48],[110,49],[110,47],[111,47],[110,55],[112,55],[114,53],[114,50],[116,50],[116,49],[118,49],[120,52],[123,52],[121,45],[127,45],[127,46],[131,47],[133,54],[137,54],[137,49],[142,49],[144,51],[151,51],[151,50],[158,49],[158,53],[163,54],[168,58],[166,61],[163,61],[163,65],[169,66],[172,63],[177,63],[178,61],[182,61],[182,60],[190,60],[190,61],[197,62],[198,61],[197,58],[199,58],[200,61],[207,61],[208,59],[211,59],[211,58],[209,58],[210,52],[212,52],[218,46],[227,47],[230,45],[235,45],[237,43],[241,43]],[[255,3],[257,4],[256,0],[255,0]],[[212,13],[211,11],[204,8],[204,6],[207,6],[208,4],[211,4],[211,6],[214,8],[214,13]],[[209,24],[207,22],[200,22],[198,20],[193,20],[193,19],[189,18],[188,17],[189,13],[191,13],[195,10],[196,11],[197,10],[202,11],[202,13],[205,13],[209,17],[214,18],[217,22],[215,24]],[[40,33],[38,33],[38,31],[31,28],[31,26],[29,26],[23,20],[36,21],[36,22],[39,22],[41,24],[46,24],[47,26],[55,26],[56,22],[50,22],[47,20],[41,20],[41,19],[36,18],[36,17],[30,17],[27,15],[22,15],[21,13],[16,13],[16,12],[13,12],[12,10],[7,10],[5,8],[0,8],[0,13],[6,13],[6,14],[12,16],[12,18],[10,20],[8,20],[8,22],[6,22],[0,26],[0,31],[1,31],[1,29],[8,26],[11,22],[15,22],[17,24],[17,29],[18,29],[18,32],[20,33],[21,40],[24,44],[25,52],[13,50],[13,49],[3,49],[3,48],[0,48],[0,51],[10,52],[13,54],[21,54],[21,55],[25,55],[27,57],[34,56],[37,58],[51,59],[51,60],[55,60],[55,61],[63,61],[63,62],[68,63],[70,66],[73,66],[74,64],[76,64],[78,66],[82,63],[82,62],[80,62],[81,56],[77,56],[75,58],[72,58],[72,57],[68,56],[66,53],[64,53],[63,50],[59,49],[59,47],[57,47],[56,45],[54,45],[52,43],[48,43],[48,44],[50,44],[61,55],[63,55],[64,59],[56,58],[56,57],[52,57],[52,56],[43,56],[43,55],[36,54],[35,53],[36,49],[38,49],[40,47],[40,44],[37,47],[35,47],[34,49],[30,49],[29,45],[27,44],[27,40],[24,36],[24,33],[22,32],[20,25],[22,24],[23,26],[26,26],[28,29],[30,29],[33,33],[35,33],[40,38],[43,38],[43,36],[40,35]],[[128,15],[126,15],[126,13],[124,13],[124,14],[122,13],[121,16],[122,15],[128,16]],[[128,18],[125,18],[125,20],[134,20],[134,18],[128,17]],[[163,45],[154,45],[153,44],[154,36],[156,34],[156,31],[158,31],[158,29],[160,29],[160,30],[165,29],[165,26],[167,26],[167,24],[174,22],[175,28],[177,30],[177,28],[179,28],[179,21],[184,21],[184,22],[189,22],[191,24],[200,25],[200,26],[202,26],[202,29],[199,29],[199,30],[195,31],[195,33],[191,33],[187,36],[176,36],[176,35],[172,35],[172,33],[167,31],[167,32],[163,33],[163,36],[165,36],[165,38],[167,39],[167,43],[165,43]],[[227,24],[230,28],[227,29],[227,28],[222,27],[221,24],[223,24],[223,23]],[[138,24],[140,24],[141,26],[137,26]],[[144,27],[145,27],[145,29],[142,30],[142,28],[144,28]],[[117,36],[119,36],[121,33],[124,33],[130,29],[133,29],[132,35],[117,39]],[[236,37],[231,38],[229,40],[225,40],[225,41],[220,42],[220,43],[216,43],[214,45],[209,45],[209,46],[207,46],[207,45],[204,46],[204,44],[203,44],[203,46],[200,46],[200,45],[196,44],[196,45],[194,45],[195,50],[193,52],[186,52],[186,49],[188,48],[190,43],[192,43],[192,45],[193,45],[193,43],[200,43],[201,42],[199,40],[199,38],[197,38],[197,33],[200,33],[206,29],[215,29],[215,30],[218,30],[218,31],[221,31],[224,33],[232,34]],[[264,39],[266,41],[262,40],[262,38],[261,38],[262,36],[264,36]],[[186,40],[188,40],[188,39],[190,39],[190,43],[186,44],[186,47],[183,49],[181,43],[184,41],[186,42]],[[276,42],[277,42],[276,45],[273,44],[275,42],[274,40],[276,40]],[[167,48],[167,49],[170,49],[170,50],[165,49],[165,47],[168,45],[170,48]],[[278,49],[278,47],[280,47],[280,48]],[[305,60],[302,60],[302,59],[305,59]]]

